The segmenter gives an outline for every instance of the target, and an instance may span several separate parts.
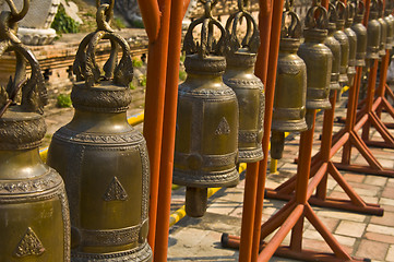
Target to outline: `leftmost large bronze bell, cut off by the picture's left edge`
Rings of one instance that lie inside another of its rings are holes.
[[[44,76],[32,51],[16,37],[16,22],[29,1],[20,13],[12,1],[8,3],[12,11],[1,12],[0,56],[13,51],[16,71],[7,86],[0,86],[0,261],[70,262],[64,183],[38,153],[46,133]]]

